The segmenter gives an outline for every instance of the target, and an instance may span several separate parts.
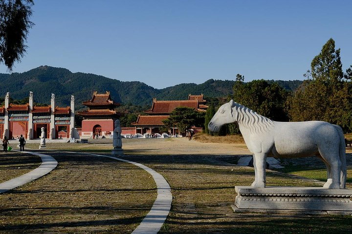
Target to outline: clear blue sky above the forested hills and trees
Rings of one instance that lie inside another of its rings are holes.
[[[351,0],[35,0],[13,72],[49,65],[154,88],[238,73],[304,79],[330,38],[344,71],[352,65],[351,9]]]

